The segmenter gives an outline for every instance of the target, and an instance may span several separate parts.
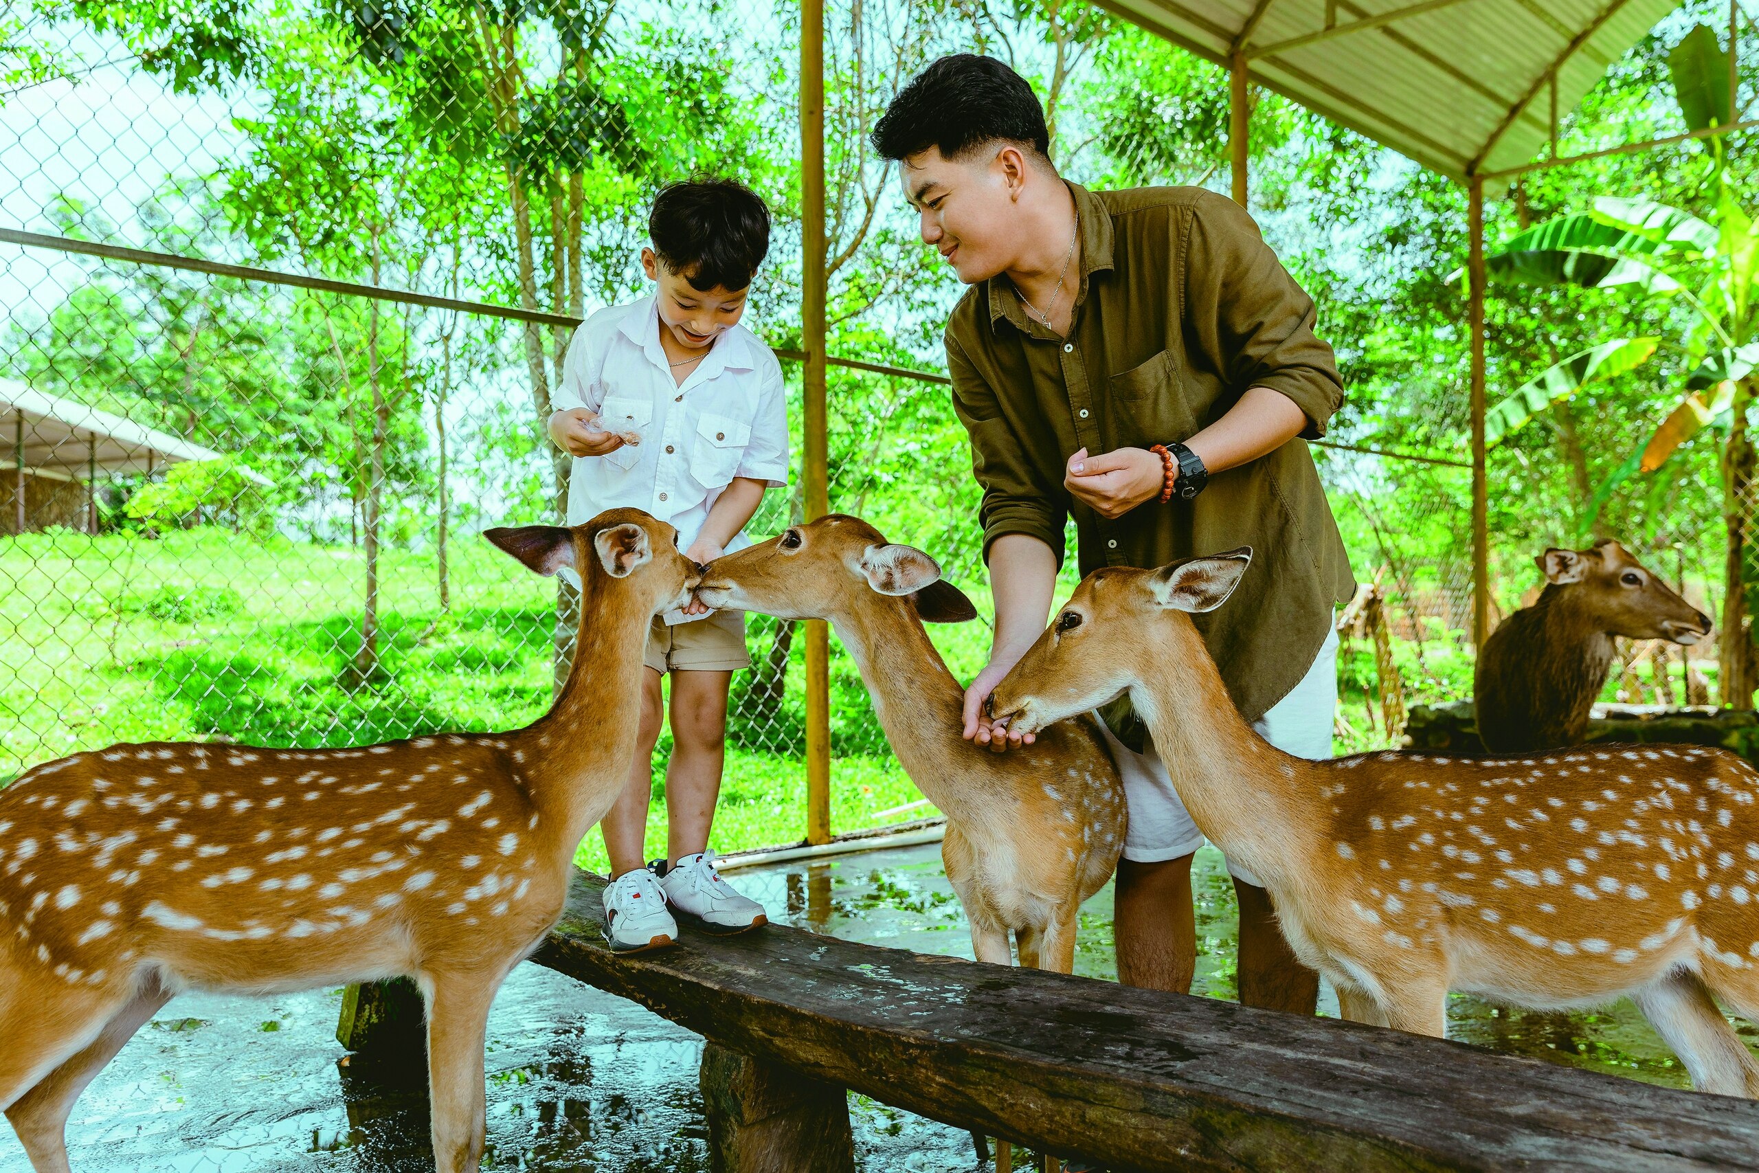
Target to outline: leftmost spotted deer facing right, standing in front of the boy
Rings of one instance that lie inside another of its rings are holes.
[[[39,1173],[69,1169],[74,1099],[176,992],[390,976],[427,1002],[434,1164],[477,1168],[489,1004],[561,916],[635,754],[647,626],[698,577],[639,510],[484,536],[584,580],[573,668],[536,725],[113,746],[0,791],[0,1108]]]

